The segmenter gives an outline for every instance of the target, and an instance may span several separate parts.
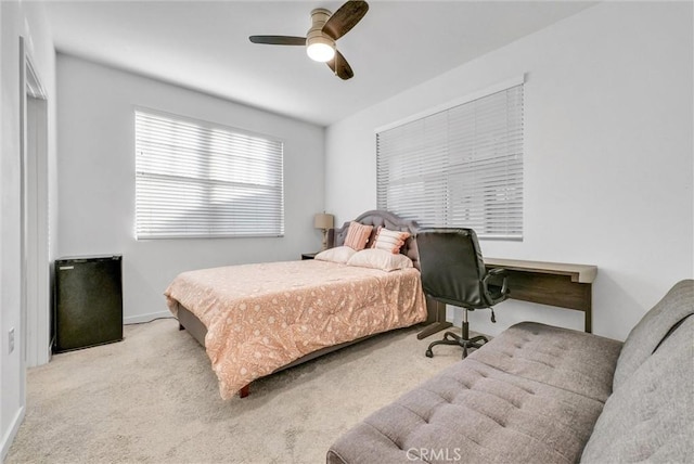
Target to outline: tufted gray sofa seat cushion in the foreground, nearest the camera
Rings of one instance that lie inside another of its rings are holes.
[[[574,463],[602,407],[468,358],[343,435],[327,462]]]

